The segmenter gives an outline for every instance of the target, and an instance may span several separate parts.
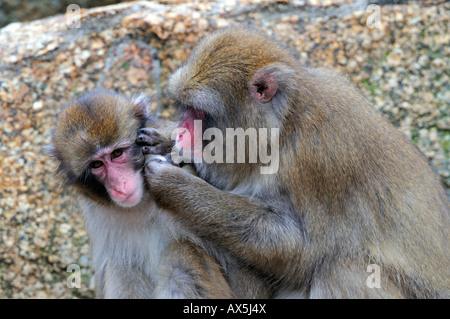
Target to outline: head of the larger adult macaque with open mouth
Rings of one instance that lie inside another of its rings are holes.
[[[203,39],[169,79],[168,95],[184,110],[192,136],[225,128],[280,128],[289,112],[297,63],[282,45],[253,28],[225,28]],[[242,116],[245,114],[245,116]],[[179,131],[177,144],[196,144]],[[192,146],[193,147],[193,146]]]

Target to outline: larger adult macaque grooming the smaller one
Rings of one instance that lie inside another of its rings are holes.
[[[261,173],[259,159],[194,163],[200,178],[151,158],[145,169],[156,202],[258,273],[272,297],[449,297],[450,205],[440,180],[345,78],[232,27],[203,39],[167,91],[185,111],[177,147],[194,156],[209,145],[192,146],[195,121],[200,135],[279,129],[273,174]]]

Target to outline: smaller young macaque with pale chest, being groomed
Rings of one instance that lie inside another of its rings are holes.
[[[137,132],[151,133],[147,149],[164,155],[174,128],[147,106],[142,96],[95,91],[66,105],[57,121],[50,151],[66,184],[81,195],[96,296],[230,298],[214,256],[156,205],[146,186]]]

